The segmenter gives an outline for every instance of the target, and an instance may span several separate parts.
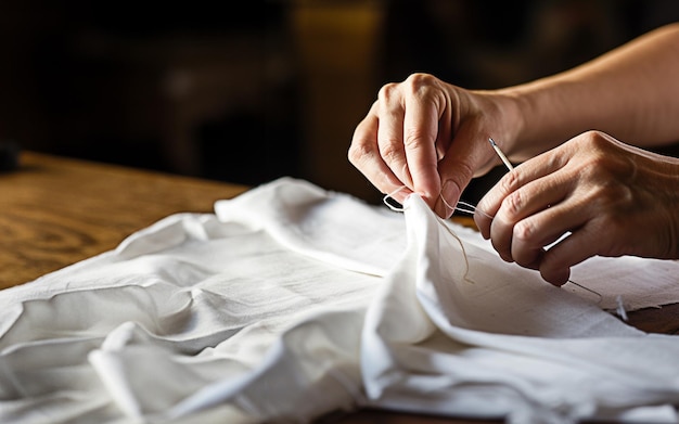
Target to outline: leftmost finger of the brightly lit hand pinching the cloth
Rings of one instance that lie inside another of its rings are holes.
[[[384,194],[394,193],[394,200],[402,203],[412,192],[408,188],[403,189],[403,182],[392,172],[380,154],[376,137],[380,121],[374,113],[376,107],[374,104],[368,116],[356,127],[348,153],[349,162],[377,190]]]

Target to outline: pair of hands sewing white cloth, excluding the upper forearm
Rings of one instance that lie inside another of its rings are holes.
[[[531,157],[546,149],[521,144],[521,127],[530,123],[517,111],[499,91],[414,75],[380,91],[356,128],[349,159],[383,193],[400,202],[418,193],[449,217],[470,180],[498,165],[492,137],[524,160],[474,216],[502,259],[562,285],[572,266],[597,255],[679,257],[679,160],[598,131]]]

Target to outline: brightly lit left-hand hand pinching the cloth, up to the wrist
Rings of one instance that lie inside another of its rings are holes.
[[[425,74],[380,90],[357,126],[349,160],[380,191],[398,202],[419,193],[439,216],[449,217],[474,176],[498,163],[488,138],[507,142],[513,111],[509,98],[473,92]],[[445,197],[445,202],[441,200]]]

